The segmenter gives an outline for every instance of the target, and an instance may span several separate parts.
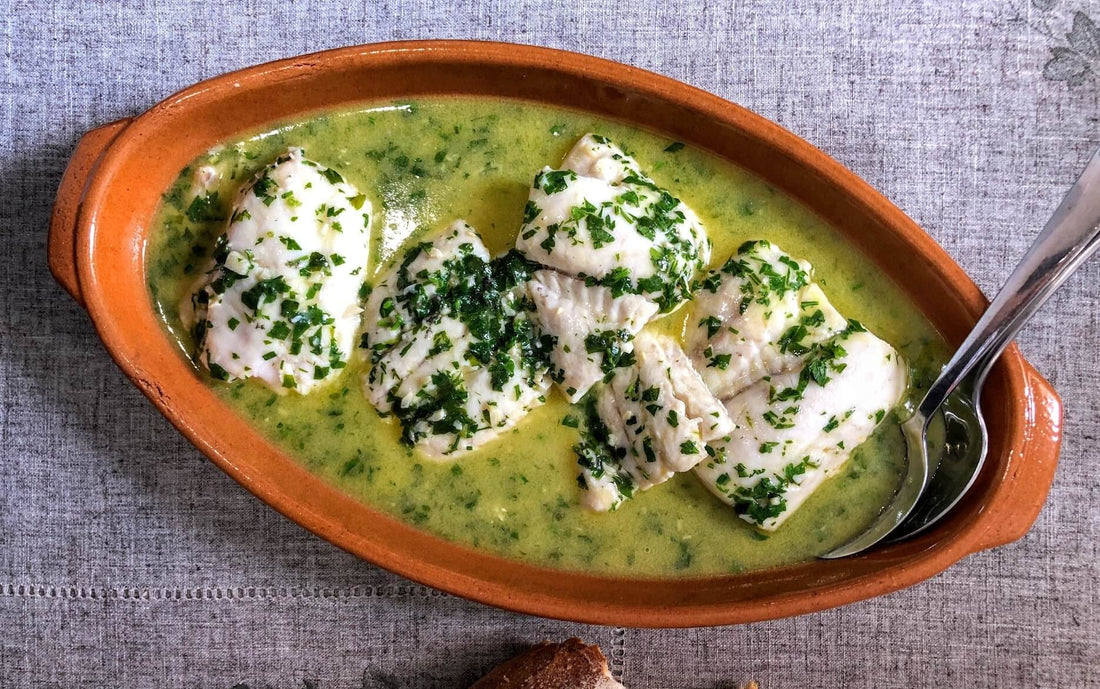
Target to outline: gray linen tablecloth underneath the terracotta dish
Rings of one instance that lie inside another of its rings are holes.
[[[173,430],[51,280],[47,218],[84,131],[355,43],[536,43],[714,91],[861,175],[987,293],[1100,143],[1097,0],[556,4],[0,3],[0,686],[461,688],[573,634],[636,689],[1100,686],[1100,261],[1022,338],[1066,403],[1027,537],[845,609],[683,631],[497,611],[314,537]]]

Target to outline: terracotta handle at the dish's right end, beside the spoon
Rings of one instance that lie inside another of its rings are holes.
[[[1024,439],[1002,477],[1004,492],[997,495],[985,515],[991,526],[978,539],[974,553],[1003,546],[1024,537],[1046,502],[1054,482],[1062,447],[1062,398],[1054,386],[1026,361],[1024,374]]]

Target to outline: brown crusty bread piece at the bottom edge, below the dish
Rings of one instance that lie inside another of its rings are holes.
[[[607,667],[600,646],[579,638],[542,642],[506,660],[470,689],[624,689]]]

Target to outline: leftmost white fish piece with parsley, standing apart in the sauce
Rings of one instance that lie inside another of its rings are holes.
[[[238,195],[193,295],[197,360],[222,381],[309,393],[348,363],[370,254],[371,203],[290,149]]]

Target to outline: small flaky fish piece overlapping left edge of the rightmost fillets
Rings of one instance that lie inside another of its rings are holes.
[[[583,501],[596,512],[706,459],[719,457],[733,424],[671,339],[641,332],[635,361],[593,391],[581,442]]]

